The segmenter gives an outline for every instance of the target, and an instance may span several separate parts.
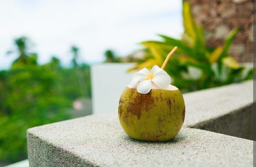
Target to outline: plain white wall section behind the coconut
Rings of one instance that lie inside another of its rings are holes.
[[[91,66],[92,113],[117,111],[119,98],[132,80],[127,73],[133,63],[103,63]]]

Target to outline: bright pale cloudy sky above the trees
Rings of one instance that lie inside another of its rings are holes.
[[[69,48],[77,45],[81,61],[98,63],[106,49],[119,56],[137,50],[156,34],[180,38],[182,1],[170,0],[1,0],[0,69],[10,67],[13,39],[25,35],[38,53],[39,63],[52,55],[69,65]]]

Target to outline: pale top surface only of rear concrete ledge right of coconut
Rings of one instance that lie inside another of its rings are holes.
[[[243,110],[253,104],[253,81],[184,94],[186,116],[183,126],[192,127]]]

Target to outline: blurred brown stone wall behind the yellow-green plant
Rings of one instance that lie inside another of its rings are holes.
[[[240,27],[230,54],[239,62],[253,61],[253,0],[187,0],[196,22],[206,30],[207,45],[223,44],[225,36]]]

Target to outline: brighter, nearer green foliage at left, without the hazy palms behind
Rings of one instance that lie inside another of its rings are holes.
[[[0,73],[0,159],[26,158],[27,128],[65,120],[69,99],[54,89],[51,69],[34,64],[16,63]]]

